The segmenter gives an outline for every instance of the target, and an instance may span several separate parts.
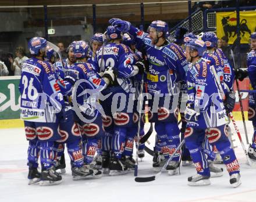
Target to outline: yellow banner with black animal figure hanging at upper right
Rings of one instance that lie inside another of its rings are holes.
[[[236,12],[217,12],[216,13],[216,30],[218,38],[227,36],[229,44],[233,44],[237,38],[237,18]],[[241,44],[248,44],[250,34],[256,31],[256,12],[240,12],[240,36]]]

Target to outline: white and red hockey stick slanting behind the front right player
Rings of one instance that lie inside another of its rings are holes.
[[[211,70],[212,70],[212,73],[214,73],[215,81],[216,81],[217,84],[218,84],[218,88],[219,88],[219,91],[221,91],[221,95],[224,95],[224,92],[223,92],[223,89],[222,89],[222,86],[221,86],[221,82],[219,81],[219,78],[218,78],[218,75],[217,75],[217,73],[216,73],[216,71],[215,71],[214,66],[211,66]],[[223,98],[222,98],[222,99],[223,99]],[[237,136],[239,137],[241,146],[243,147],[244,153],[246,154],[247,161],[248,161],[249,165],[250,165],[251,167],[253,167],[253,164],[252,164],[250,158],[248,157],[248,154],[247,154],[247,151],[246,151],[246,147],[244,146],[244,142],[243,142],[243,140],[242,140],[242,138],[241,138],[241,134],[240,134],[240,132],[239,132],[239,129],[238,129],[237,125],[236,125],[236,121],[234,121],[234,117],[233,117],[232,112],[229,113],[229,117],[231,118],[231,120],[232,120],[232,122],[233,122],[233,125],[234,125],[234,128],[236,129]]]

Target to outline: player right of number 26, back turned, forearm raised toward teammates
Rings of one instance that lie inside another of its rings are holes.
[[[102,176],[101,171],[92,164],[98,147],[98,136],[101,136],[103,131],[101,114],[96,106],[98,98],[93,97],[94,95],[91,95],[90,90],[91,92],[95,89],[97,92],[101,91],[106,88],[113,78],[112,71],[105,71],[102,78],[95,73],[93,65],[86,62],[88,48],[88,44],[84,41],[75,42],[72,50],[77,61],[66,70],[65,74],[67,92],[70,92],[70,88],[75,88],[73,89],[75,93],[72,94],[73,110],[76,111],[76,121],[79,124],[83,140],[84,165],[72,169],[74,179],[90,178],[91,171],[93,171],[93,176],[97,178]],[[76,84],[77,81],[80,84]]]

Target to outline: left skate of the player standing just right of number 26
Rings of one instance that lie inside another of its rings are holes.
[[[74,181],[77,181],[79,179],[91,178],[94,174],[93,170],[90,169],[90,165],[83,165],[82,167],[73,167],[71,168],[71,170]]]

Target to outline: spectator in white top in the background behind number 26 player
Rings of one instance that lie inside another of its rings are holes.
[[[10,68],[14,71],[14,75],[20,75],[22,73],[22,62],[29,58],[26,56],[25,50],[22,46],[16,48],[15,54],[16,57],[14,61],[12,57],[9,57]]]

